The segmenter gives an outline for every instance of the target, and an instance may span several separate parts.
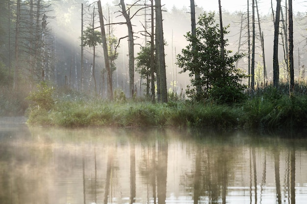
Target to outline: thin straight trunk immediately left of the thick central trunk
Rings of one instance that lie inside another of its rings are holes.
[[[153,8],[153,0],[151,0],[151,8],[152,8],[152,35],[151,35],[151,58],[150,58],[150,67],[151,67],[151,78],[152,78],[152,101],[154,102],[154,8]]]

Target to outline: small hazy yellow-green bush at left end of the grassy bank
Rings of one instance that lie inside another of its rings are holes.
[[[37,86],[37,91],[31,91],[26,99],[31,101],[30,109],[50,111],[55,101],[52,97],[54,89],[49,88],[46,82],[41,82]]]

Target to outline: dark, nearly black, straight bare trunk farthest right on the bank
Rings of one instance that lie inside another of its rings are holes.
[[[294,60],[293,60],[293,16],[292,0],[289,0],[289,73],[290,73],[290,96],[294,94]]]

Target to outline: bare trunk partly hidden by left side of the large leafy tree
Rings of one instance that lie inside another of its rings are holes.
[[[192,38],[196,39],[196,19],[195,19],[195,3],[194,0],[190,0],[190,7],[191,7],[191,27],[192,27]],[[195,40],[192,41],[192,50],[193,52],[196,49],[196,45],[195,45]],[[195,64],[195,63],[193,63]],[[199,85],[199,81],[201,80],[201,76],[200,76],[200,70],[199,68],[195,67],[194,68],[194,72],[195,72],[195,81],[196,81],[196,99],[200,100],[201,99],[201,94],[202,94],[202,88]]]

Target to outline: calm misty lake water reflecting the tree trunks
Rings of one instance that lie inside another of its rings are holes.
[[[1,118],[0,204],[306,204],[304,136]]]

